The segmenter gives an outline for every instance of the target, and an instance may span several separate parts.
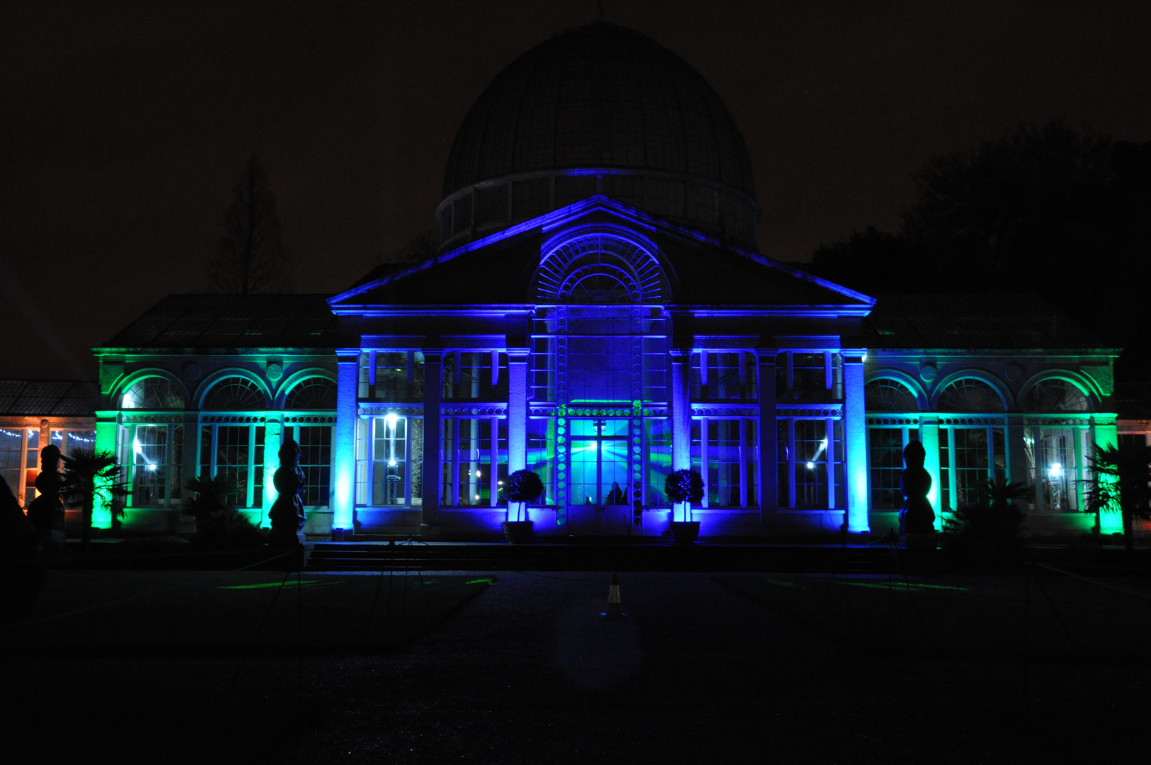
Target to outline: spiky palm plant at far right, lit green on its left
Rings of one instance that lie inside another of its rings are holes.
[[[1085,488],[1084,510],[1095,514],[1093,533],[1099,533],[1102,513],[1120,513],[1123,545],[1135,548],[1135,518],[1151,520],[1151,446],[1121,442],[1097,446],[1088,457],[1090,474],[1080,483]]]

